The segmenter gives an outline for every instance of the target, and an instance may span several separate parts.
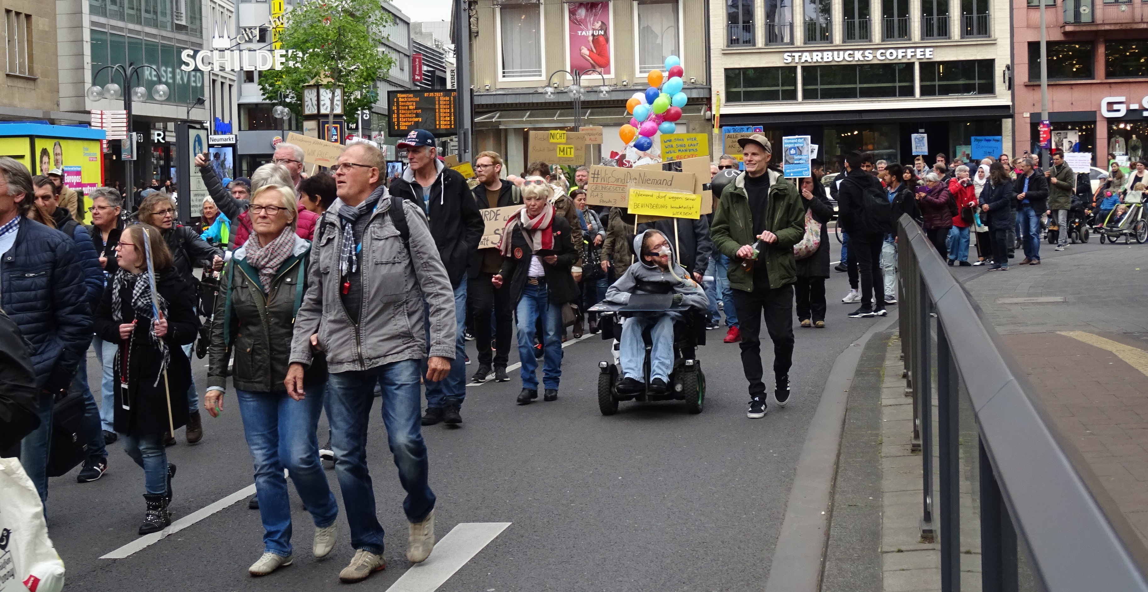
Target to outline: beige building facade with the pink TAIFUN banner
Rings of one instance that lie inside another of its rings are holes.
[[[647,87],[646,75],[664,69],[670,55],[682,61],[690,98],[678,132],[708,131],[705,7],[703,0],[472,2],[473,154],[495,150],[506,172],[521,172],[529,131],[574,130],[573,79],[563,70],[591,69],[600,76],[582,78],[577,123],[602,126],[603,145],[585,150],[587,162],[623,151],[618,131],[630,120],[626,101]]]

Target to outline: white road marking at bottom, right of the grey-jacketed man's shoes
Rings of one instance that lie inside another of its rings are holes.
[[[569,343],[569,342],[566,342]],[[510,522],[463,522],[442,537],[430,556],[403,574],[387,592],[434,592],[479,554]]]

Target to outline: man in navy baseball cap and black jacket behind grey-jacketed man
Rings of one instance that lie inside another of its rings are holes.
[[[455,289],[455,321],[458,325],[457,351],[450,374],[445,380],[426,384],[427,411],[422,424],[433,426],[440,421],[457,424],[463,422],[459,408],[466,398],[466,342],[463,338],[466,267],[471,254],[479,248],[486,224],[466,179],[437,158],[439,149],[430,132],[411,130],[398,142],[398,148],[406,149],[410,165],[390,182],[390,195],[414,202],[429,218],[430,235]]]

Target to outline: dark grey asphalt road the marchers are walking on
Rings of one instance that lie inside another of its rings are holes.
[[[794,328],[791,403],[784,410],[771,405],[763,420],[746,419],[738,346],[721,343],[719,330],[709,332],[709,344],[698,351],[708,381],[700,415],[687,414],[680,403],[622,403],[616,415],[603,416],[596,403],[597,363],[610,359],[610,351],[598,336],[564,350],[557,402],[515,405],[517,371],[509,383],[468,388],[460,428],[424,430],[430,485],[439,497],[436,532],[441,538],[459,523],[511,524],[439,590],[763,586],[793,467],[827,374],[838,353],[872,324],[846,317],[855,306],[840,304],[847,289],[845,274],[833,273],[828,328]],[[768,343],[766,337],[767,360]],[[473,343],[468,348],[474,358]],[[194,364],[201,391],[203,363]],[[92,360],[88,372],[91,383],[99,384]],[[367,445],[389,566],[360,586],[387,590],[410,568],[404,493],[379,415],[372,428]],[[204,414],[204,430],[199,445],[186,445],[180,430],[180,444],[168,449],[170,461],[179,465],[176,520],[251,484],[233,397],[220,418]],[[320,442],[326,430],[320,421]],[[340,514],[335,550],[321,560],[310,555],[312,525],[292,489],[295,562],[269,577],[247,575],[263,550],[263,531],[246,498],[124,559],[100,559],[139,538],[144,475],[119,443],[110,446],[110,472],[102,480],[80,484],[75,474],[52,480],[48,498],[51,536],[72,590],[334,590],[341,586],[339,570],[354,554]],[[334,472],[327,474],[342,505]]]

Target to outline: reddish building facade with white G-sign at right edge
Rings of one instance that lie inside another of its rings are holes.
[[[1141,1],[1046,0],[1048,118],[1064,148],[1092,153],[1108,168],[1146,157],[1148,141],[1148,5]],[[1039,0],[1014,7],[1017,131],[1014,150],[1038,154]]]

